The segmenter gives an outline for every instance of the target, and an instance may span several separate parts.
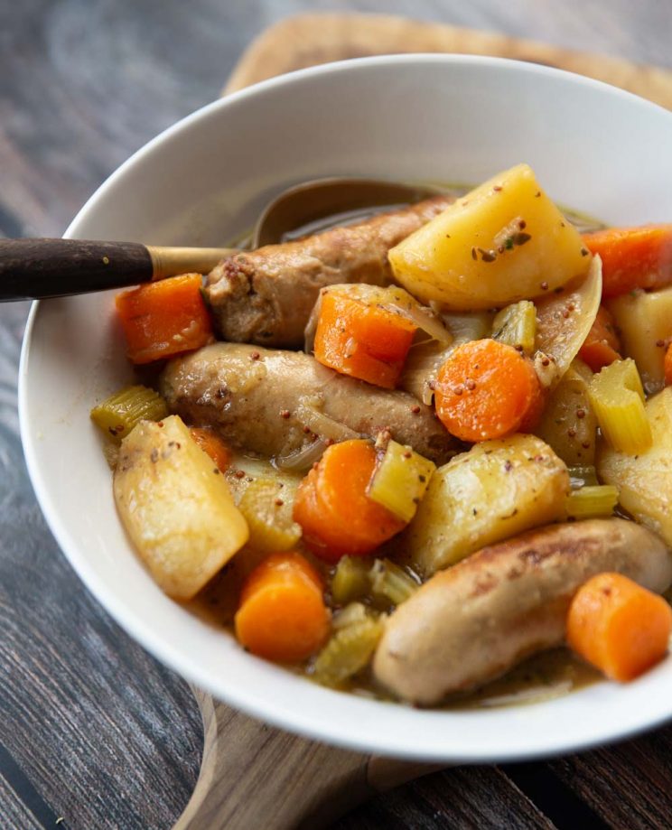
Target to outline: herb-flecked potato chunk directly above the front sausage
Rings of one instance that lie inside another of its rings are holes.
[[[569,475],[534,435],[483,441],[440,467],[406,530],[411,564],[423,575],[486,545],[565,518]]]

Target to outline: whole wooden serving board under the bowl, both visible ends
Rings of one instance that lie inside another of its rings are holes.
[[[366,55],[454,52],[533,61],[599,79],[672,109],[672,72],[495,33],[378,14],[301,14],[247,48],[223,94],[285,72]],[[327,827],[366,798],[439,766],[387,760],[282,732],[194,689],[201,774],[175,830]]]

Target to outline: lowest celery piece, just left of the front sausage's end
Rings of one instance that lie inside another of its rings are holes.
[[[364,668],[383,635],[383,618],[367,616],[331,635],[315,658],[313,677],[318,683],[339,686]]]

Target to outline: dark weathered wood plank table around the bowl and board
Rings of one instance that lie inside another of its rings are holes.
[[[253,36],[316,8],[383,10],[375,0],[0,0],[0,236],[61,235],[128,154],[218,96]],[[667,0],[388,0],[384,10],[672,67]],[[16,414],[27,311],[0,307],[0,827],[170,827],[197,777],[201,718],[187,685],[85,591],[42,519]],[[671,785],[667,727],[563,759],[435,773],[337,826],[663,828]]]

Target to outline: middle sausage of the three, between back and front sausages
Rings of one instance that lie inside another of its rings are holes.
[[[299,351],[215,343],[172,360],[161,390],[173,413],[209,424],[234,446],[285,456],[320,437],[374,437],[388,428],[400,443],[435,462],[456,451],[455,439],[434,413],[407,392],[346,378]],[[335,433],[329,429],[336,424]]]

